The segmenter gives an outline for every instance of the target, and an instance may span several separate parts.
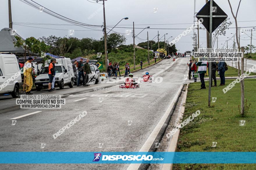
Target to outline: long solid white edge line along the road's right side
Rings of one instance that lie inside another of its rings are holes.
[[[177,91],[175,97],[173,98],[173,100],[171,101],[168,109],[166,110],[166,112],[163,114],[161,120],[158,122],[157,126],[154,128],[154,130],[152,131],[152,133],[150,134],[150,136],[147,138],[146,142],[144,143],[144,145],[141,147],[139,152],[148,152],[150,147],[152,146],[152,144],[154,143],[159,131],[161,130],[161,128],[163,127],[163,124],[165,123],[168,115],[170,114],[170,111],[173,108],[173,105],[175,103],[175,101],[177,100],[178,96],[179,96],[179,92],[181,91],[183,85],[180,86],[179,90]],[[127,168],[127,170],[135,170],[135,169],[139,169],[140,167],[140,163],[138,164],[130,164],[129,167]]]

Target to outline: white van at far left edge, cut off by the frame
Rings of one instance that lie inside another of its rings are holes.
[[[21,85],[21,72],[16,56],[0,54],[0,94],[11,94],[17,98]]]

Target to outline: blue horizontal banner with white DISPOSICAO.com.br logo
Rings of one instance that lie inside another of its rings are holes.
[[[256,152],[0,152],[1,164],[256,164]]]

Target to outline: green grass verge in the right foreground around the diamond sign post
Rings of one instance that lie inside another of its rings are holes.
[[[233,80],[226,80],[226,85]],[[251,103],[247,116],[239,115],[240,84],[223,93],[223,86],[212,87],[211,97],[217,97],[208,107],[208,88],[200,90],[200,82],[189,85],[183,120],[200,110],[201,114],[180,129],[178,152],[256,151],[256,89],[255,79],[246,79],[245,98]],[[218,81],[217,84],[220,84]],[[207,86],[208,87],[208,86]],[[245,126],[239,126],[245,120]],[[211,147],[217,142],[216,147]],[[174,164],[173,169],[256,169],[256,164]]]

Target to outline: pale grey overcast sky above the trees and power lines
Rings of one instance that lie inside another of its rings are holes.
[[[30,0],[28,0],[30,1]],[[103,5],[102,3],[92,3],[93,0],[34,0],[40,4],[63,15],[64,17],[73,19],[86,24],[91,25],[102,25],[103,24]],[[91,2],[89,2],[91,1]],[[230,0],[232,3],[233,10],[237,9],[239,0]],[[227,0],[215,0],[215,2],[227,13],[230,17],[230,21],[234,21],[230,7]],[[65,21],[54,18],[49,14],[40,12],[39,10],[28,6],[27,4],[19,0],[11,0],[12,3],[12,18],[15,24],[13,29],[17,31],[23,38],[34,36],[35,38],[41,36],[69,36],[69,30],[75,30],[74,36],[78,38],[93,37],[100,39],[103,35],[102,28],[94,28],[90,30],[87,28],[68,25]],[[205,4],[205,0],[196,0],[195,12],[198,12]],[[255,27],[256,28],[256,1],[255,0],[242,0],[239,8],[237,20],[239,27]],[[8,0],[1,0],[1,20],[0,28],[6,28],[8,26]],[[158,8],[157,12],[153,12],[154,8]],[[184,30],[189,28],[193,24],[193,13],[194,13],[194,1],[193,0],[107,0],[105,1],[106,10],[106,25],[114,26],[122,18],[129,17],[128,20],[122,20],[117,27],[125,28],[114,28],[113,31],[126,33],[126,30],[132,30],[132,24],[135,24],[135,34],[141,32],[141,28],[150,26],[150,29],[146,29],[136,38],[135,43],[144,42],[147,39],[147,31],[149,34],[149,40],[152,40],[159,31],[159,38],[164,34],[166,39],[170,36],[175,38],[181,34]],[[246,21],[246,22],[244,22]],[[249,22],[248,22],[249,21]],[[26,24],[20,24],[26,23]],[[35,25],[27,23],[40,23],[44,25]],[[47,25],[45,25],[47,24]],[[52,25],[55,24],[55,25]],[[61,25],[56,25],[61,24]],[[22,26],[23,25],[23,26]],[[40,28],[34,28],[40,27]],[[127,28],[126,28],[127,27]],[[204,28],[201,25],[202,28]],[[219,37],[219,48],[223,47],[222,44],[226,40],[232,37],[231,33],[235,33],[235,23],[233,23],[227,35]],[[153,28],[153,29],[152,29]],[[173,29],[175,28],[175,29]],[[96,29],[96,30],[95,30]],[[110,28],[111,29],[111,28]],[[243,28],[249,30],[251,28]],[[131,35],[125,35],[127,38],[126,44],[133,43]],[[176,43],[178,50],[184,52],[186,50],[193,49],[193,31],[188,35],[182,37],[179,42]],[[206,47],[206,31],[200,30],[199,32],[199,44],[202,47]],[[250,31],[245,31],[241,34],[241,46],[250,44]],[[229,37],[229,38],[227,38]],[[163,38],[162,38],[163,39]],[[170,38],[169,40],[171,40]],[[232,45],[233,39],[228,41],[228,46]],[[253,31],[253,44],[256,45],[256,31]],[[216,43],[215,43],[216,47]],[[226,47],[226,44],[225,44]]]

